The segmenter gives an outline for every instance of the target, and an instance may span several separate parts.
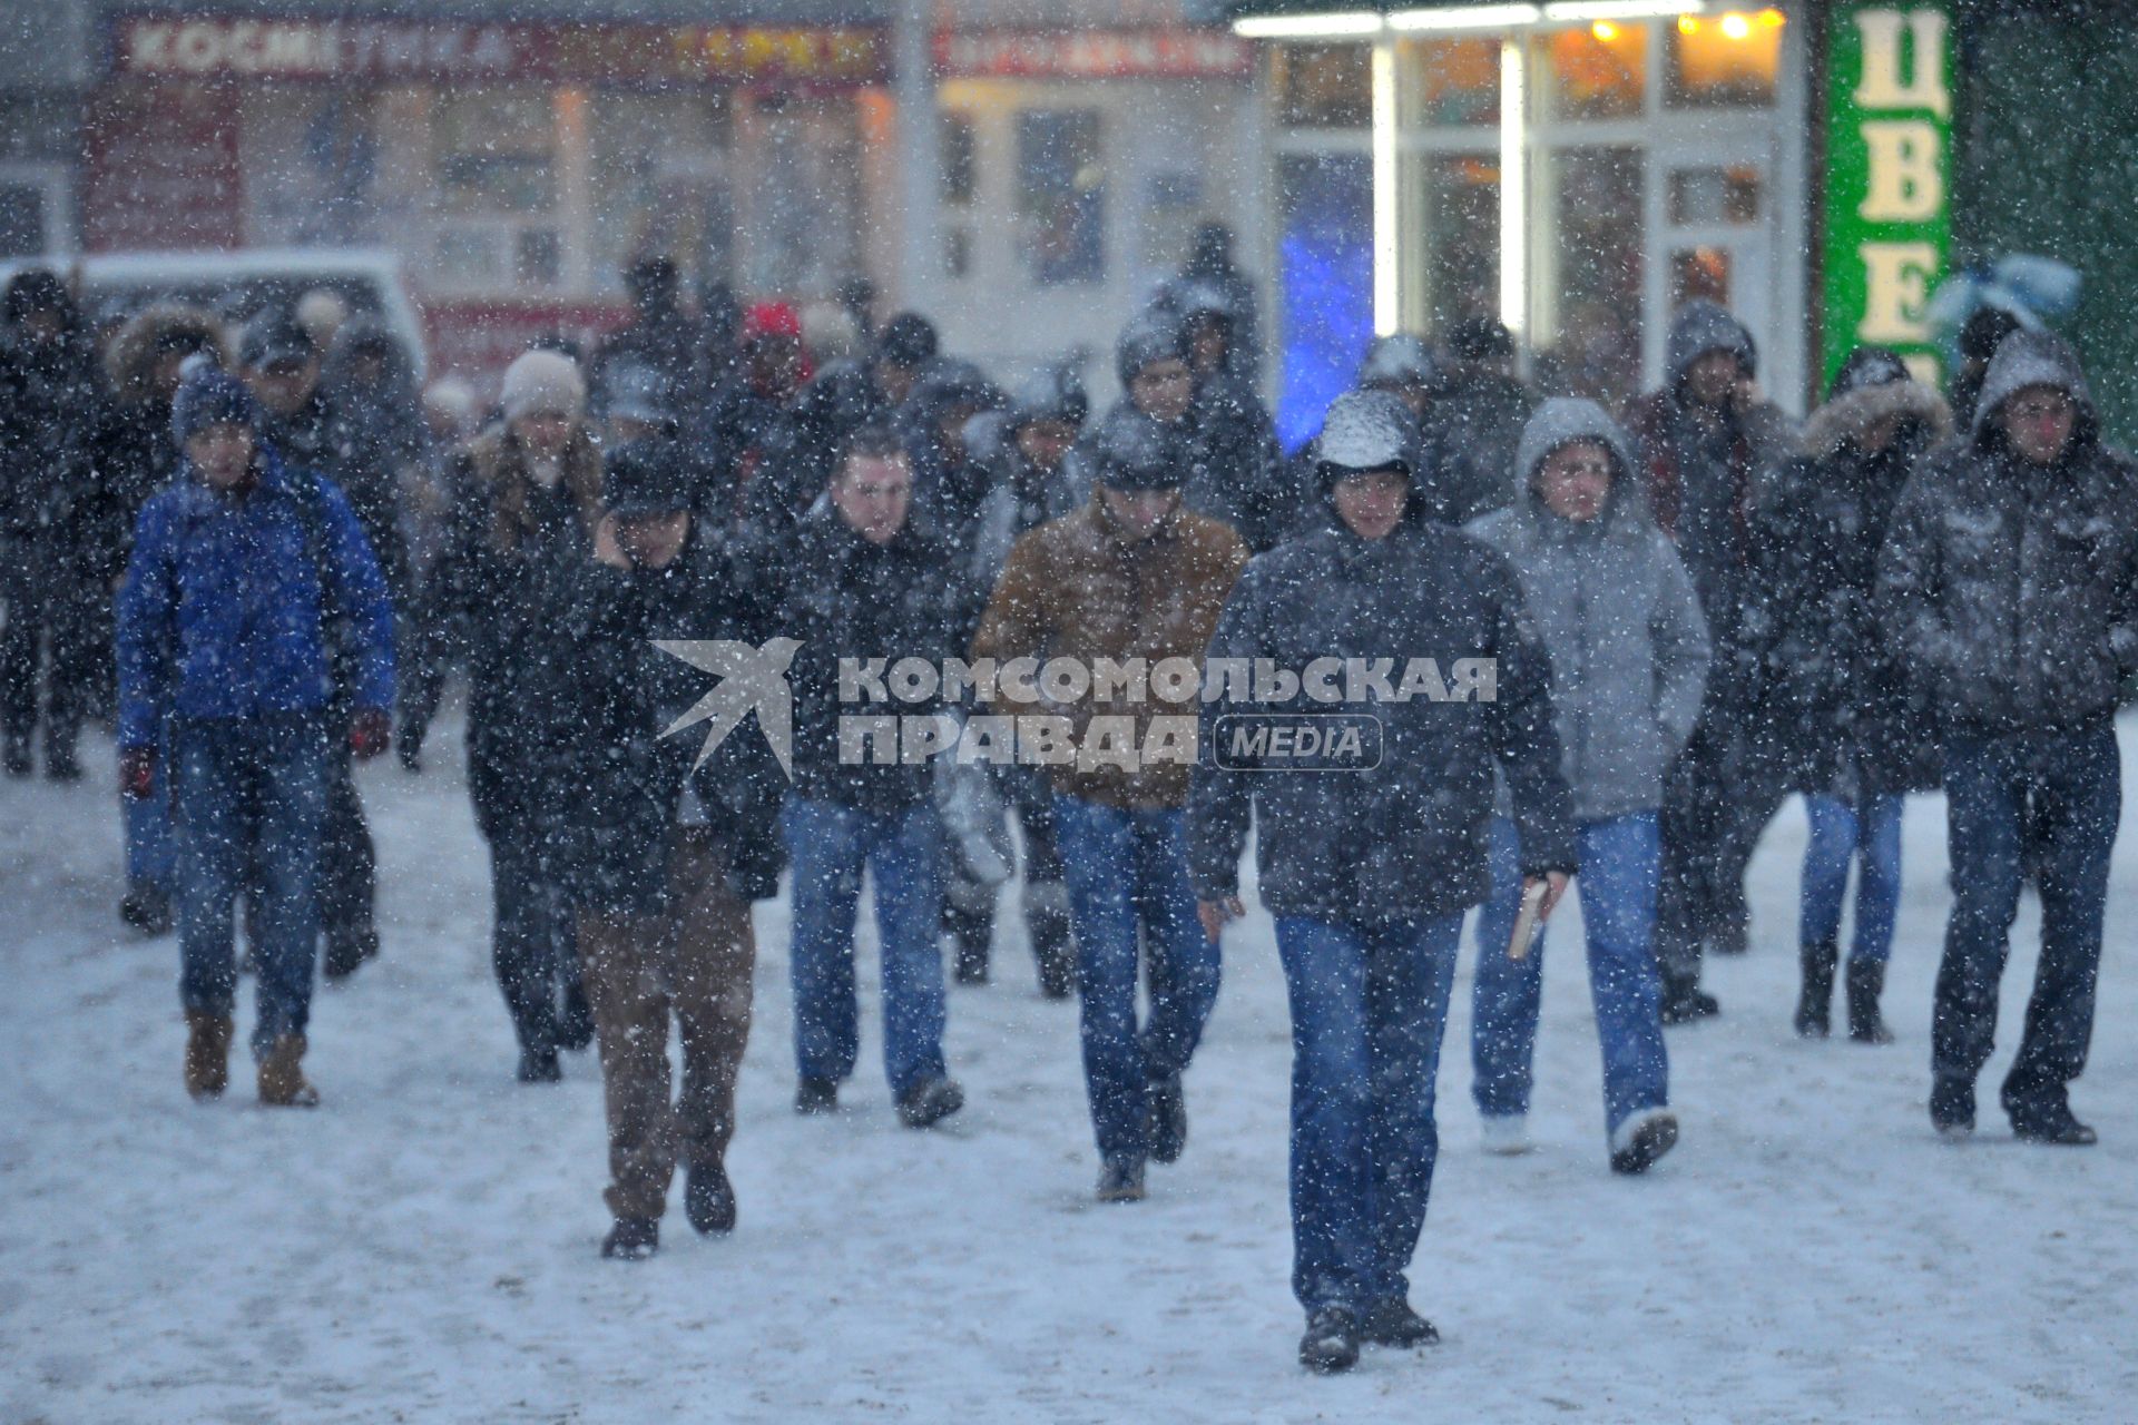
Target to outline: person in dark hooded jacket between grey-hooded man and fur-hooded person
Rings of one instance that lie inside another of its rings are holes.
[[[1742,953],[1745,867],[1783,799],[1777,748],[1760,735],[1747,652],[1751,517],[1764,470],[1790,457],[1790,419],[1755,385],[1751,333],[1710,301],[1670,327],[1670,380],[1633,402],[1627,434],[1663,534],[1678,547],[1715,643],[1706,711],[1663,797],[1663,887],[1655,953],[1663,1023],[1719,1013],[1700,987],[1706,951]]]

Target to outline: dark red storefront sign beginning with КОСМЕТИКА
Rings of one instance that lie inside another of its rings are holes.
[[[874,26],[483,24],[130,15],[111,71],[141,79],[800,83],[889,77]]]

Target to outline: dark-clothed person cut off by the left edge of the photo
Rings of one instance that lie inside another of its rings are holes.
[[[28,776],[43,711],[45,776],[75,782],[81,718],[109,707],[111,585],[96,545],[109,538],[98,466],[111,408],[58,276],[15,273],[0,316],[0,743],[6,773]]]

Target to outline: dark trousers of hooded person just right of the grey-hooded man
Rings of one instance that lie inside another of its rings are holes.
[[[1666,981],[1698,983],[1708,942],[1745,936],[1745,867],[1785,795],[1772,737],[1710,701],[1663,780],[1655,959]]]

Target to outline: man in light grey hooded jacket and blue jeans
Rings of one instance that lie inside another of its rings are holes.
[[[1507,555],[1552,660],[1552,720],[1574,793],[1589,987],[1604,1049],[1610,1164],[1642,1173],[1678,1137],[1670,1113],[1655,889],[1663,776],[1693,735],[1708,630],[1655,528],[1625,432],[1601,406],[1548,400],[1522,429],[1514,504],[1467,532]],[[1520,833],[1492,818],[1492,895],[1477,917],[1471,1085],[1486,1147],[1527,1152],[1544,936],[1509,946],[1522,908]]]

